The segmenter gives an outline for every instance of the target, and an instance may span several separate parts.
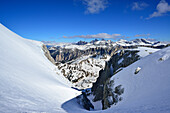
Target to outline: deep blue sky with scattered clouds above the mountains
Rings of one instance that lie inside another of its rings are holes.
[[[170,0],[0,0],[0,23],[39,41],[170,41]]]

